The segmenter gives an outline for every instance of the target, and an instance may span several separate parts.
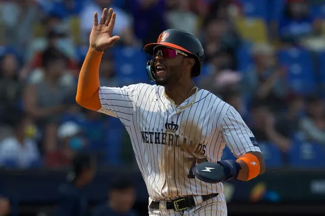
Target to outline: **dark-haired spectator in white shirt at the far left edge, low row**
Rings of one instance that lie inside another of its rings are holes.
[[[30,119],[15,115],[11,122],[13,135],[0,142],[0,165],[27,168],[40,161],[36,141],[27,137]]]

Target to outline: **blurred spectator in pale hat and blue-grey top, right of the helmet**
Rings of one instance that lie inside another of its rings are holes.
[[[269,44],[255,44],[251,55],[254,66],[244,72],[242,79],[244,96],[267,102],[272,112],[278,112],[286,96],[286,69],[277,65],[275,51]]]

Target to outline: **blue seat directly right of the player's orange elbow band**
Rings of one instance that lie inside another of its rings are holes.
[[[283,166],[281,151],[273,143],[269,141],[259,141],[258,145],[267,167],[276,168]]]

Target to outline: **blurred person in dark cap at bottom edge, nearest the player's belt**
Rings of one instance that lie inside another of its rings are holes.
[[[94,208],[92,216],[136,216],[132,207],[136,200],[135,185],[126,173],[113,178],[108,201]]]

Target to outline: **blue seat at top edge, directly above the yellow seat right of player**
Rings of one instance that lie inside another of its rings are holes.
[[[246,17],[262,18],[268,17],[268,0],[240,0]]]

